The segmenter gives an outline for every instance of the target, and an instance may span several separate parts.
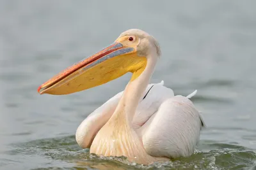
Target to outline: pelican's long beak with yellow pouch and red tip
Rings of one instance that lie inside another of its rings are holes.
[[[91,57],[81,60],[38,87],[40,94],[71,94],[114,80],[145,67],[145,57],[136,49],[116,41]]]

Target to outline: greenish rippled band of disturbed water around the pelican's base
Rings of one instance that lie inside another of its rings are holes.
[[[253,150],[215,141],[201,141],[198,151],[191,157],[172,159],[164,163],[155,162],[149,166],[128,162],[125,157],[90,154],[88,149],[81,150],[77,146],[75,136],[38,139],[13,146],[17,149],[8,151],[10,155],[25,154],[33,157],[39,154],[47,159],[65,162],[69,165],[65,169],[244,169],[255,166],[256,161]],[[61,167],[49,164],[39,169],[59,168]]]

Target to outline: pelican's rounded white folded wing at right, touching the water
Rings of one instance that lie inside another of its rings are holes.
[[[153,96],[164,95],[156,90],[154,93]],[[177,158],[195,152],[204,123],[188,97],[174,96],[161,101],[156,112],[137,131],[149,155]]]

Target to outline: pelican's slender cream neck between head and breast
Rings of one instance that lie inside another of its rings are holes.
[[[143,69],[142,73],[140,69],[133,73],[132,76],[136,76],[135,74],[140,74],[140,76],[129,81],[125,87],[124,94],[109,121],[113,121],[114,124],[120,122],[121,124],[125,123],[131,125],[138,103],[154,72],[156,62],[157,56],[147,56],[147,66],[141,68]],[[125,122],[123,122],[123,120],[125,120]]]

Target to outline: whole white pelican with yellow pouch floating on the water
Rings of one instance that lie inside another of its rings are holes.
[[[127,157],[152,164],[195,153],[205,126],[190,97],[174,96],[161,83],[149,84],[160,47],[140,29],[122,32],[113,44],[68,67],[38,87],[40,94],[63,95],[90,89],[131,72],[125,90],[79,125],[76,141],[90,153]]]

